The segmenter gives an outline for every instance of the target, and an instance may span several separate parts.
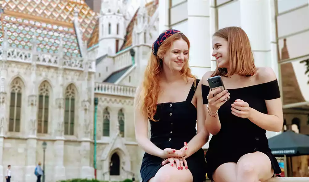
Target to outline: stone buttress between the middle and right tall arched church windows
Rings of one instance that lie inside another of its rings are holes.
[[[54,167],[54,180],[66,180],[66,168],[63,165],[64,162],[64,107],[65,99],[63,95],[63,49],[62,49],[62,40],[60,40],[60,45],[58,48],[59,52],[59,68],[57,70],[58,77],[58,92],[54,94],[55,110],[58,117],[54,118],[53,122],[53,136],[56,138],[56,141],[53,145],[53,152],[55,155],[55,167]]]

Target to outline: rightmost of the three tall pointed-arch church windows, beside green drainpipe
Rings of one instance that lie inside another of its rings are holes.
[[[65,92],[65,113],[64,113],[64,134],[74,135],[74,113],[76,88],[73,84],[66,87]]]

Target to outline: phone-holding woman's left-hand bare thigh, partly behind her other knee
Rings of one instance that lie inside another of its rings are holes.
[[[236,163],[221,164],[213,174],[214,182],[234,182],[236,180]]]

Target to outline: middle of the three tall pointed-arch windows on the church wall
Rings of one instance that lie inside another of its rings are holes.
[[[37,133],[48,133],[49,92],[50,85],[44,81],[39,87],[38,126]]]

